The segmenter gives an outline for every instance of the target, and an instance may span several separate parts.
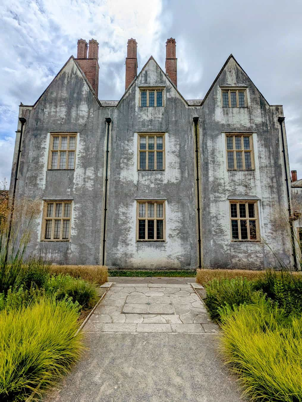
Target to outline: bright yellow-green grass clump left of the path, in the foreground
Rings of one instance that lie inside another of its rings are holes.
[[[81,332],[74,304],[45,297],[19,310],[0,312],[0,400],[24,400],[49,386],[79,359]]]

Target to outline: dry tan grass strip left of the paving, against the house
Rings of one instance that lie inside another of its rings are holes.
[[[81,277],[85,281],[103,285],[107,282],[108,268],[103,265],[51,265],[53,274],[65,274],[74,278]]]

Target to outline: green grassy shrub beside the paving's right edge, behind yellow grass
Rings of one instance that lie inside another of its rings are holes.
[[[205,289],[207,297],[204,301],[213,319],[219,319],[219,308],[226,304],[232,309],[240,304],[253,304],[262,296],[261,292],[255,292],[252,282],[243,278],[213,279]]]

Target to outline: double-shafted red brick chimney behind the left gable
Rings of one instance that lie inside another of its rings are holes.
[[[87,58],[88,49],[88,58]],[[89,48],[87,42],[84,39],[77,41],[77,64],[79,64],[81,70],[85,74],[92,89],[97,96],[99,89],[99,44],[95,39],[89,41]]]

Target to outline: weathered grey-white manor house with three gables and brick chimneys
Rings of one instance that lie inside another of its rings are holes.
[[[20,105],[10,199],[42,207],[28,253],[124,269],[297,265],[302,183],[282,106],[233,55],[203,99],[184,99],[172,38],[165,72],[151,56],[139,73],[129,39],[125,92],[102,100],[98,49],[80,39],[36,103]]]

